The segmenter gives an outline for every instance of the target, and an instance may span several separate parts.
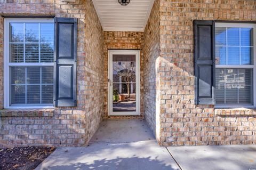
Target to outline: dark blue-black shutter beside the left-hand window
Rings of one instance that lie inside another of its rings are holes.
[[[54,18],[54,105],[76,106],[77,19]]]

